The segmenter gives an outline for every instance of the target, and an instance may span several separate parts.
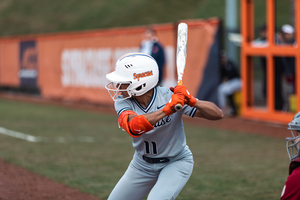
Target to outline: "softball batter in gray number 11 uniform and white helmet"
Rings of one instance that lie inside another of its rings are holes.
[[[175,199],[193,170],[182,115],[218,120],[222,111],[200,101],[185,86],[157,86],[158,66],[147,54],[130,53],[106,75],[105,87],[115,101],[118,123],[131,137],[135,153],[109,200]],[[173,93],[174,91],[174,93]],[[175,112],[180,103],[183,109]]]

